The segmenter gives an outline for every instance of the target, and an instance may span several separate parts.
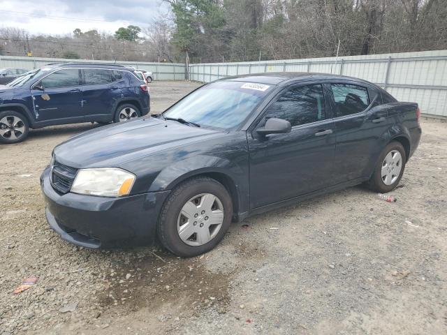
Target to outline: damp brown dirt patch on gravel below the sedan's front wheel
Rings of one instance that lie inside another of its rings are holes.
[[[115,264],[105,281],[105,292],[98,297],[101,306],[125,305],[126,311],[140,308],[154,311],[175,298],[177,308],[190,312],[210,306],[225,311],[229,301],[228,274],[207,270],[201,258],[162,255],[165,262],[148,260],[141,255],[129,262]]]

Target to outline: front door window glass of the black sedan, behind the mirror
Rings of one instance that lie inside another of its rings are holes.
[[[265,119],[272,117],[287,120],[292,127],[325,119],[323,87],[314,84],[284,92],[268,107]]]

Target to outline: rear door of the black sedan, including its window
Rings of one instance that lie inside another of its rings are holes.
[[[331,82],[327,88],[337,134],[334,181],[338,184],[367,177],[374,169],[383,147],[382,135],[389,126],[381,95],[360,82]]]

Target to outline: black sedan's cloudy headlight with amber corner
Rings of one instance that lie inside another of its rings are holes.
[[[131,193],[135,176],[118,168],[81,169],[76,174],[71,192],[120,197]]]

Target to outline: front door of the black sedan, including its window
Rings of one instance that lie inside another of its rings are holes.
[[[317,191],[332,184],[335,132],[321,84],[289,87],[266,108],[291,122],[286,134],[247,134],[251,209]]]

